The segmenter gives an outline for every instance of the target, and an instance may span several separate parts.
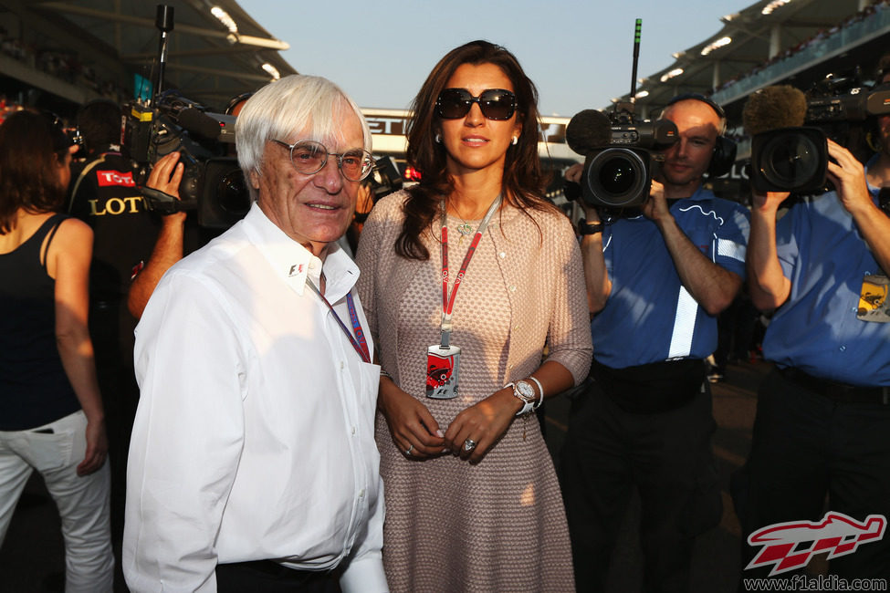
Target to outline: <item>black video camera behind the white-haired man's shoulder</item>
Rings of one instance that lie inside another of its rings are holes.
[[[153,107],[133,102],[126,113],[124,146],[138,185],[144,185],[155,162],[173,151],[180,153],[185,168],[179,200],[142,189],[150,210],[162,214],[197,211],[199,225],[220,229],[246,214],[250,198],[244,173],[227,150],[235,142],[234,116],[210,113],[169,91]]]

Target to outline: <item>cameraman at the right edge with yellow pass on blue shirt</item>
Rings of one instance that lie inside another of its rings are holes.
[[[865,168],[829,140],[834,191],[793,205],[778,222],[788,194],[754,196],[751,296],[776,310],[763,354],[777,368],[759,389],[746,465],[743,567],[759,552],[747,536],[819,521],[826,495],[829,511],[854,521],[890,517],[890,217],[878,199],[890,188],[890,115],[875,120],[878,153]],[[890,578],[890,538],[832,559],[830,570]]]

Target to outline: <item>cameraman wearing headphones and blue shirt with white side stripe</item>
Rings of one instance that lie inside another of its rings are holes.
[[[562,452],[580,591],[605,588],[634,486],[644,590],[689,590],[693,540],[720,517],[704,359],[717,348],[717,314],[745,276],[749,214],[702,187],[707,172],[731,165],[723,110],[685,95],[662,118],[679,141],[642,215],[581,228],[594,382],[572,405]]]

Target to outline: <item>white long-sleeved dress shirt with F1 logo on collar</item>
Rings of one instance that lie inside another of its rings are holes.
[[[351,328],[359,269],[330,248],[325,296]],[[122,563],[133,591],[215,591],[217,563],[259,559],[345,561],[344,591],[387,590],[380,368],[306,286],[321,265],[255,203],[152,294],[136,328]]]

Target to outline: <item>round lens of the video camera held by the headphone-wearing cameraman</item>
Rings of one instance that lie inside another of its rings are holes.
[[[643,156],[640,151],[610,148],[592,157],[586,181],[596,205],[623,208],[644,203],[649,171]]]

